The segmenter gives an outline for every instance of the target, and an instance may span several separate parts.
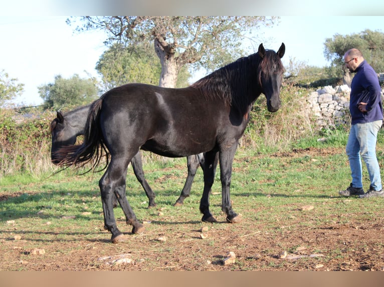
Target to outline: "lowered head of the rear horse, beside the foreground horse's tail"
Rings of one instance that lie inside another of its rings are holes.
[[[61,111],[57,111],[56,118],[51,122],[51,135],[51,160],[54,164],[59,164],[62,158],[58,150],[65,145],[75,144],[77,136]]]

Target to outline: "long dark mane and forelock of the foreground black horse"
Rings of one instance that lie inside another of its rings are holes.
[[[219,68],[191,86],[198,88],[207,99],[221,98],[226,105],[233,106],[241,114],[245,114],[250,101],[259,96],[250,92],[261,91],[262,74],[268,76],[268,71],[273,68],[273,65],[276,65],[278,71],[284,69],[275,51],[266,50],[263,58],[259,53],[254,53]]]

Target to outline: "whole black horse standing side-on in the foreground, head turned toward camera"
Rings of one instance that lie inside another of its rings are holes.
[[[131,83],[113,88],[91,105],[84,131],[84,142],[68,145],[58,152],[61,165],[98,165],[107,155],[107,169],[99,181],[104,224],[112,242],[124,241],[116,226],[112,194],[118,197],[132,233],[143,232],[125,195],[127,166],[140,148],[168,157],[205,152],[204,190],[200,201],[202,220],[216,222],[209,209],[214,182],[213,163],[219,152],[222,182],[222,210],[227,221],[239,222],[232,209],[230,185],[232,163],[239,138],[249,121],[257,97],[264,93],[267,107],[280,107],[280,86],[284,67],[277,52],[265,50],[242,57],[185,88],[163,88]],[[109,156],[108,156],[109,155]]]

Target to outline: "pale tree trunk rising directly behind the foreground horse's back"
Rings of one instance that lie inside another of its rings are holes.
[[[175,87],[178,68],[174,52],[164,50],[157,38],[154,40],[154,46],[161,63],[159,86]]]

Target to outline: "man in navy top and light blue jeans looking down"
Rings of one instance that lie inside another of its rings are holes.
[[[358,195],[360,198],[384,197],[376,157],[377,132],[383,119],[381,89],[377,74],[358,49],[348,50],[344,54],[344,62],[351,72],[356,73],[351,82],[349,111],[352,122],[345,148],[352,182],[347,189],[340,190],[339,194]],[[362,188],[360,153],[370,179],[370,186],[365,194]]]

